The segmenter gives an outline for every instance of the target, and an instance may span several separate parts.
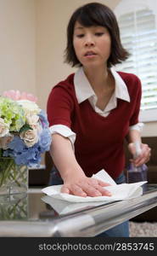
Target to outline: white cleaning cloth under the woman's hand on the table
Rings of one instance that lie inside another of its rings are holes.
[[[138,183],[122,183],[116,184],[112,177],[109,176],[107,172],[101,170],[97,174],[93,175],[94,178],[100,179],[106,183],[110,183],[111,186],[104,187],[104,189],[109,190],[111,192],[111,196],[77,196],[77,195],[69,195],[65,193],[61,193],[60,189],[62,185],[53,185],[48,186],[47,188],[42,189],[42,192],[62,201],[70,201],[70,202],[91,202],[91,201],[119,201],[119,200],[128,200],[131,198],[135,198],[139,195],[143,194],[143,189],[141,186],[147,181],[138,182]]]

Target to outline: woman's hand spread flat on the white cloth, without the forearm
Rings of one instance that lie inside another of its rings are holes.
[[[61,189],[62,193],[78,196],[110,196],[111,193],[103,187],[109,186],[109,183],[104,183],[93,177],[79,175],[78,177],[70,177],[64,181]]]

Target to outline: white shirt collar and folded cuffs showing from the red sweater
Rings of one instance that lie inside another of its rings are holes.
[[[110,72],[112,73],[115,79],[115,91],[113,95],[110,97],[107,106],[104,110],[101,110],[96,106],[97,96],[89,83],[83,68],[80,67],[75,75],[74,75],[74,87],[76,90],[76,98],[78,103],[84,102],[88,100],[92,105],[94,111],[104,117],[108,116],[110,111],[117,107],[117,99],[121,99],[126,102],[130,102],[130,96],[126,87],[125,82],[121,79],[119,73],[117,73],[114,67],[110,68]],[[137,123],[136,125],[132,125],[129,127],[130,130],[142,131],[143,123]],[[59,133],[64,137],[69,137],[72,145],[74,146],[76,140],[76,133],[71,131],[68,126],[65,125],[53,125],[50,127],[50,131],[52,134]]]

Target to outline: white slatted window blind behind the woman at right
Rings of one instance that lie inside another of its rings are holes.
[[[138,9],[119,16],[121,42],[131,56],[117,69],[135,73],[142,81],[141,113],[154,110],[157,120],[157,29],[151,9]],[[147,121],[150,114],[144,120]]]

